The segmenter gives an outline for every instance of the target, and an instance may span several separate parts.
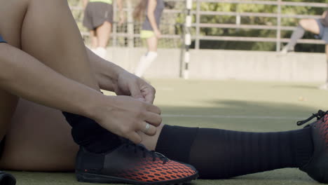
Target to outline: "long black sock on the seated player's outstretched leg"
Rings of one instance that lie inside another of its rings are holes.
[[[312,156],[313,142],[310,128],[261,133],[165,125],[156,151],[193,165],[200,178],[226,179],[301,167]]]

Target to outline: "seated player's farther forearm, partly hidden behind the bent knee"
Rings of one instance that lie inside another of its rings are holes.
[[[117,84],[118,75],[125,71],[125,69],[118,65],[102,59],[98,55],[95,55],[91,50],[87,48],[88,57],[90,63],[93,66],[93,70],[100,85],[101,89],[114,91],[114,85]]]

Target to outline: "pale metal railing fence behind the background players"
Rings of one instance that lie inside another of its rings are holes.
[[[172,1],[172,0],[171,0]],[[167,18],[168,15],[179,15],[180,20],[184,20],[183,17],[186,13],[186,0],[174,0],[179,4],[179,6],[175,6],[173,9],[165,10],[163,18]],[[114,1],[115,2],[115,1]],[[136,22],[132,19],[132,11],[133,6],[135,4],[135,0],[125,0],[127,2],[125,4],[124,11],[127,15],[127,22],[125,24],[125,29],[120,28],[117,22],[114,22],[113,27],[113,34],[112,34],[112,46],[118,46],[118,38],[124,39],[127,43],[126,45],[129,47],[138,47],[139,45],[136,44],[136,41],[139,42],[139,31],[136,29]],[[257,5],[269,5],[269,6],[276,6],[275,13],[251,13],[251,12],[226,12],[226,11],[203,11],[201,9],[202,3],[225,3],[225,4],[257,4]],[[313,2],[290,2],[290,1],[283,1],[283,0],[275,0],[275,1],[253,1],[253,0],[193,0],[193,11],[191,11],[194,22],[192,24],[193,29],[195,32],[192,35],[192,39],[194,41],[195,49],[200,48],[200,41],[251,41],[251,42],[271,42],[275,43],[276,50],[280,50],[281,43],[288,42],[289,39],[282,38],[281,32],[293,30],[294,27],[290,26],[283,26],[282,19],[285,18],[321,18],[321,15],[291,15],[291,14],[284,14],[282,13],[282,8],[284,6],[306,6],[306,7],[313,7],[313,8],[328,8],[328,4],[324,3],[313,3]],[[116,5],[114,4],[114,11],[115,15],[117,12]],[[71,9],[74,11],[82,11],[81,7],[73,6]],[[235,17],[234,24],[225,24],[225,23],[204,23],[200,22],[201,16],[217,16],[217,15],[228,15]],[[177,20],[178,16],[175,16],[175,20]],[[245,17],[258,17],[258,18],[274,18],[276,19],[276,25],[242,25],[240,24],[240,18]],[[174,19],[173,19],[174,20]],[[78,19],[81,21],[81,18]],[[164,39],[175,39],[179,41],[180,39],[184,38],[181,34],[183,30],[177,29],[183,26],[184,22],[166,22],[167,27],[175,27],[173,32],[168,32],[163,34]],[[138,28],[138,26],[137,26]],[[268,29],[273,30],[276,32],[275,38],[270,37],[250,37],[250,36],[207,36],[201,34],[202,28],[222,28],[222,29]],[[123,32],[118,32],[118,30],[123,30]],[[82,32],[83,36],[88,36],[88,32]],[[181,42],[183,43],[183,42]],[[313,43],[313,44],[324,44],[323,41],[317,39],[301,39],[299,43]],[[177,44],[178,46],[179,44]]]

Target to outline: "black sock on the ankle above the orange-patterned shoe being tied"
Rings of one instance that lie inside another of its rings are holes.
[[[120,137],[102,128],[92,119],[68,112],[62,112],[62,114],[71,125],[74,142],[84,146],[88,151],[103,153],[115,149],[121,144]]]

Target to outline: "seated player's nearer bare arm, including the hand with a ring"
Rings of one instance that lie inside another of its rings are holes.
[[[154,135],[160,109],[132,97],[110,97],[58,74],[36,58],[0,44],[0,88],[27,100],[94,119],[116,135],[141,142],[138,131],[151,123]],[[128,116],[127,116],[128,115]]]

